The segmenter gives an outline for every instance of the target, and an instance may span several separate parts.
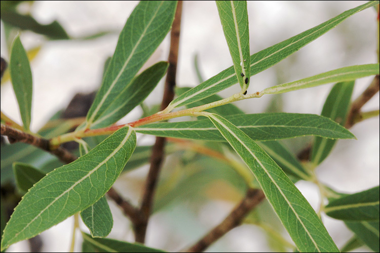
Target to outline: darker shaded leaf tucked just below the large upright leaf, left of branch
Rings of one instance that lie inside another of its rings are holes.
[[[113,102],[107,108],[99,112],[99,117],[92,123],[91,128],[102,128],[115,123],[139,105],[155,89],[168,66],[167,62],[156,63],[134,78],[113,98]]]

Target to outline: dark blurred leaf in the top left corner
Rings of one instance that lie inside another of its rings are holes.
[[[43,25],[37,22],[32,16],[19,14],[12,9],[7,9],[4,11],[2,9],[0,13],[4,23],[11,26],[18,27],[23,30],[31,30],[35,33],[46,35],[51,39],[70,38],[57,21]]]

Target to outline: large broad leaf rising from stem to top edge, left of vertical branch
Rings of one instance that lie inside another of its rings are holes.
[[[131,87],[131,80],[170,30],[176,6],[176,1],[141,1],[133,10],[120,33],[100,90],[87,114],[89,126],[95,121],[98,128],[110,125],[126,115],[125,111],[124,114],[120,112],[123,108],[115,109],[131,96],[127,90],[132,89],[134,93],[138,88]],[[104,114],[105,111],[113,114]],[[106,115],[107,118],[101,121]]]

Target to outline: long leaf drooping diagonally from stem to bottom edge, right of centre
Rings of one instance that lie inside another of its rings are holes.
[[[339,252],[309,202],[276,162],[223,117],[204,113],[255,175],[265,196],[300,252]]]

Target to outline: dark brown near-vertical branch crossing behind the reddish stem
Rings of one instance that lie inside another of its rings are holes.
[[[164,96],[161,103],[161,110],[165,109],[174,98],[174,87],[177,71],[178,48],[179,48],[179,33],[181,25],[182,1],[178,1],[177,10],[175,13],[172,30],[170,33],[170,53],[169,53],[169,68],[166,75]],[[156,143],[152,148],[150,158],[150,168],[146,178],[145,189],[141,201],[142,220],[134,224],[136,242],[144,243],[146,227],[148,224],[151,205],[153,202],[155,189],[160,174],[161,165],[164,157],[165,138],[157,137]]]

